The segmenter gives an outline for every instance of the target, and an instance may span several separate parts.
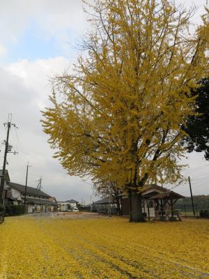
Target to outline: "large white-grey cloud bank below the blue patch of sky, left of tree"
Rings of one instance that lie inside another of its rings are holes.
[[[26,163],[29,161],[33,166],[29,169],[29,186],[36,186],[36,181],[42,176],[44,190],[50,195],[80,202],[83,198],[89,202],[91,186],[68,176],[58,160],[52,158],[53,152],[40,125],[40,104],[42,107],[47,104],[50,93],[49,76],[61,73],[68,64],[63,57],[56,57],[33,62],[21,60],[0,68],[0,140],[6,137],[3,121],[6,121],[8,112],[12,112],[13,122],[19,129],[11,130],[10,144],[19,154],[8,154],[10,179],[24,183]],[[0,153],[0,160],[3,161],[3,152]]]

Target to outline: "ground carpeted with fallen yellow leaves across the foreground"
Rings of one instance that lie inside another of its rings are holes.
[[[7,218],[0,278],[209,278],[209,221]]]

